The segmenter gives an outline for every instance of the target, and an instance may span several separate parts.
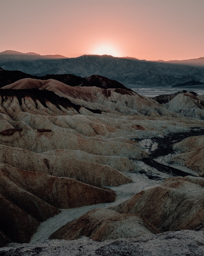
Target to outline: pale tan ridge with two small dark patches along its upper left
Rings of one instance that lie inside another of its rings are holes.
[[[95,155],[115,155],[141,159],[147,153],[137,148],[135,143],[114,142],[97,138],[83,137],[65,132],[52,131],[39,133],[36,130],[17,131],[12,136],[0,134],[0,144],[11,147],[24,148],[36,153],[55,149],[82,150]]]

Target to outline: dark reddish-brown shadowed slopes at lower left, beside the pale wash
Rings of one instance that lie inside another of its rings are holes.
[[[0,164],[0,242],[29,242],[39,222],[56,208],[75,208],[113,202],[110,189],[93,187],[65,177],[23,171]]]

